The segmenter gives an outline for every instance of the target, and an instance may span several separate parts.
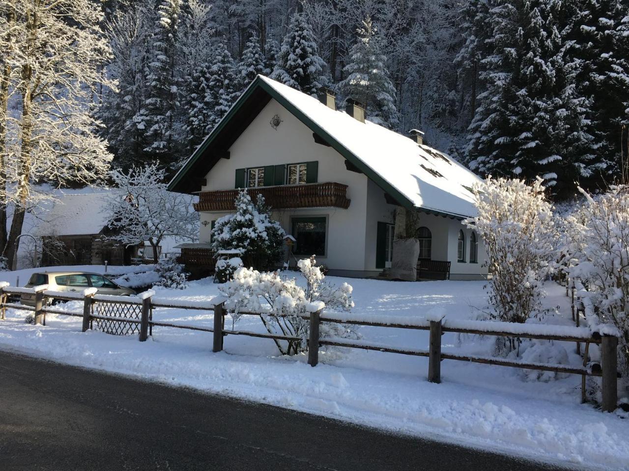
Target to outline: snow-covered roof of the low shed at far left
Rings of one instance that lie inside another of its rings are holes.
[[[40,215],[36,236],[84,236],[98,234],[107,224],[104,208],[108,192],[58,197],[50,211]]]

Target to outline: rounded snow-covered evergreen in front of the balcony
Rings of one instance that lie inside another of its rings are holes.
[[[264,197],[253,204],[247,190],[238,193],[236,213],[216,220],[212,229],[212,249],[242,251],[245,266],[266,269],[281,259],[284,229],[270,217]]]

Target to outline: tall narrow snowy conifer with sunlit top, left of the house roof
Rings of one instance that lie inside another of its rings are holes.
[[[173,165],[175,113],[179,108],[179,76],[175,73],[177,28],[182,0],[162,0],[150,40],[152,58],[147,68],[147,99],[135,121],[145,133],[147,159]]]

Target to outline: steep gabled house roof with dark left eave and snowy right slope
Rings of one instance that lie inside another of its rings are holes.
[[[262,75],[194,151],[169,190],[198,190],[199,177],[208,173],[271,98],[404,207],[455,217],[476,215],[471,188],[481,179],[446,154],[372,122],[360,122]]]

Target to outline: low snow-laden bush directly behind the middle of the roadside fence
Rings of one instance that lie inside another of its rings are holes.
[[[240,268],[233,279],[219,289],[227,297],[225,307],[233,313],[235,322],[243,311],[260,313],[260,319],[269,333],[299,337],[287,346],[279,340],[276,345],[282,355],[297,354],[306,350],[309,322],[313,303],[323,302],[326,310],[350,311],[353,308],[352,286],[343,283],[333,286],[315,263],[315,257],[298,262],[299,271],[306,279],[306,288],[296,278],[282,277],[279,272],[259,272]],[[353,337],[358,333],[352,326],[339,323],[321,323],[321,337]]]

